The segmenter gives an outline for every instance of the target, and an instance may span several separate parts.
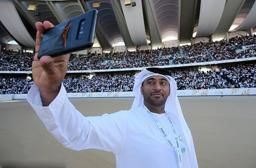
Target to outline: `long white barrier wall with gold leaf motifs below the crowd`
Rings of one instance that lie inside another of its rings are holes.
[[[184,96],[250,96],[256,95],[256,88],[234,89],[202,89],[202,90],[178,90],[178,97]],[[134,97],[133,92],[92,92],[92,93],[67,93],[69,98],[107,98],[107,97]],[[0,101],[14,99],[27,99],[27,94],[0,95]]]

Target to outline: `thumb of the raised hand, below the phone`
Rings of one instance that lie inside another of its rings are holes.
[[[56,69],[51,56],[42,56],[40,59],[40,64],[47,75],[55,74]]]

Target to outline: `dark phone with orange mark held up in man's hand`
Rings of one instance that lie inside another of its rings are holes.
[[[60,56],[91,48],[98,11],[90,10],[45,31],[37,58]]]

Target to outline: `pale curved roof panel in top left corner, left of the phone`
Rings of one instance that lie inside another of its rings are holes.
[[[0,0],[0,21],[19,43],[28,48],[35,47],[36,42],[28,33],[15,6],[9,0]]]

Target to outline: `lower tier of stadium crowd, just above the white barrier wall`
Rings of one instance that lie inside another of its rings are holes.
[[[224,66],[221,70],[198,68],[172,71],[178,90],[256,87],[256,64]],[[67,92],[132,91],[135,73],[110,73],[90,76],[67,75],[63,84]],[[33,81],[29,77],[0,76],[0,94],[27,93]]]

